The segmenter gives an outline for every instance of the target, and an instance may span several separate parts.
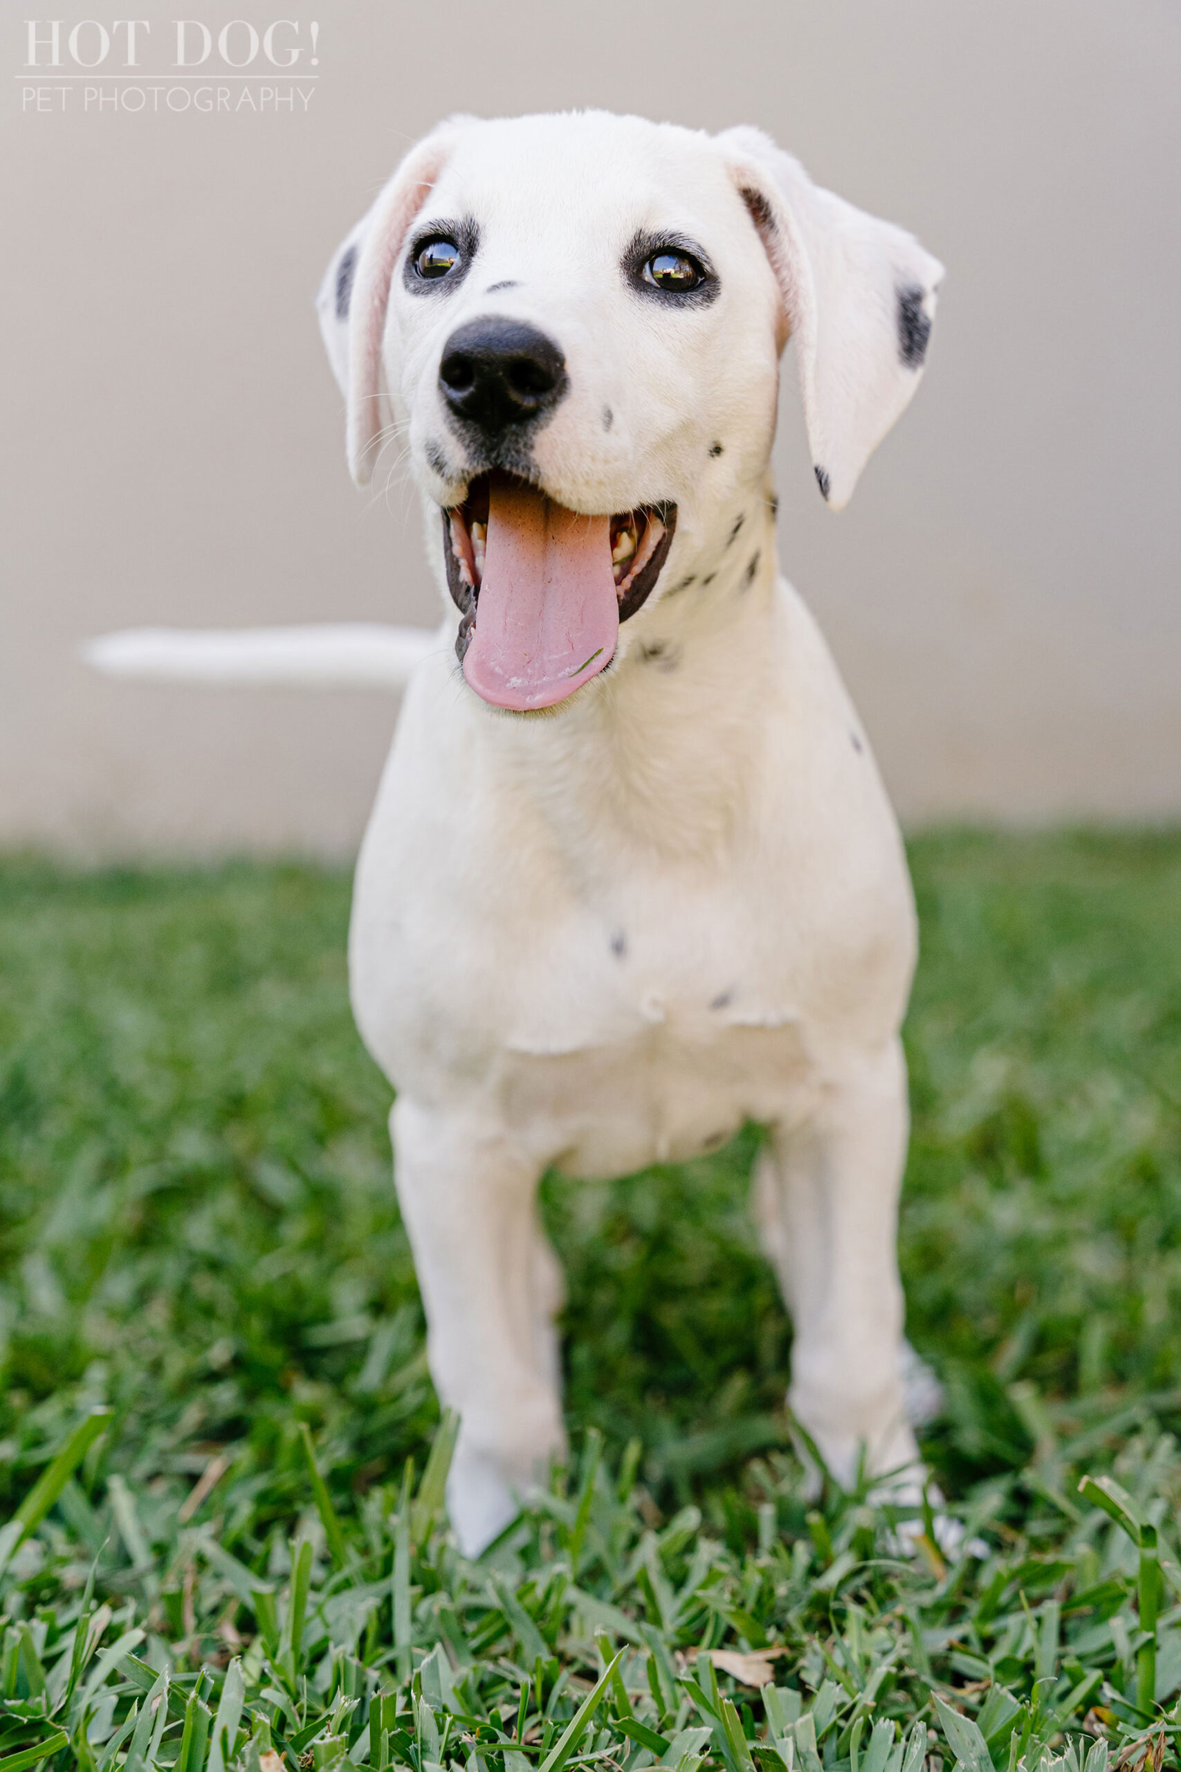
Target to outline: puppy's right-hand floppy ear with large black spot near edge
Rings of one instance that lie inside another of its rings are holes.
[[[761,129],[726,129],[731,175],[795,333],[820,491],[841,510],[919,386],[944,275],[912,234],[813,184]]]

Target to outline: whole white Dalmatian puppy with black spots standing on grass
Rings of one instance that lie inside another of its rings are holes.
[[[753,128],[455,117],[317,298],[354,480],[397,439],[421,493],[441,633],[92,649],[140,673],[409,673],[349,976],[397,1088],[469,1554],[565,1448],[540,1175],[676,1162],[745,1122],[791,1412],[841,1481],[921,1483],[896,1263],[914,902],[779,576],[770,448],[791,337],[818,493],[846,503],[917,388],[940,276]]]

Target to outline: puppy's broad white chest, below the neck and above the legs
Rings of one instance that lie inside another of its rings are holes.
[[[811,689],[791,684],[802,712],[765,737],[776,767],[733,840],[683,851],[666,831],[625,838],[568,757],[563,794],[544,790],[471,737],[450,679],[423,679],[361,852],[351,936],[358,1024],[395,1086],[540,1164],[627,1173],[791,1115],[834,1040],[891,1031],[907,875],[823,666],[820,652]]]

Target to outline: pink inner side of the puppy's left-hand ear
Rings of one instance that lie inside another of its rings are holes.
[[[368,486],[382,427],[381,340],[390,285],[411,222],[452,156],[453,131],[428,135],[405,156],[377,198],[352,282],[349,314],[349,471]]]

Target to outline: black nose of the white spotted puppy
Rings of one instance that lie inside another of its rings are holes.
[[[544,331],[489,315],[457,326],[443,347],[439,390],[457,418],[496,434],[551,411],[568,386],[567,360]]]

